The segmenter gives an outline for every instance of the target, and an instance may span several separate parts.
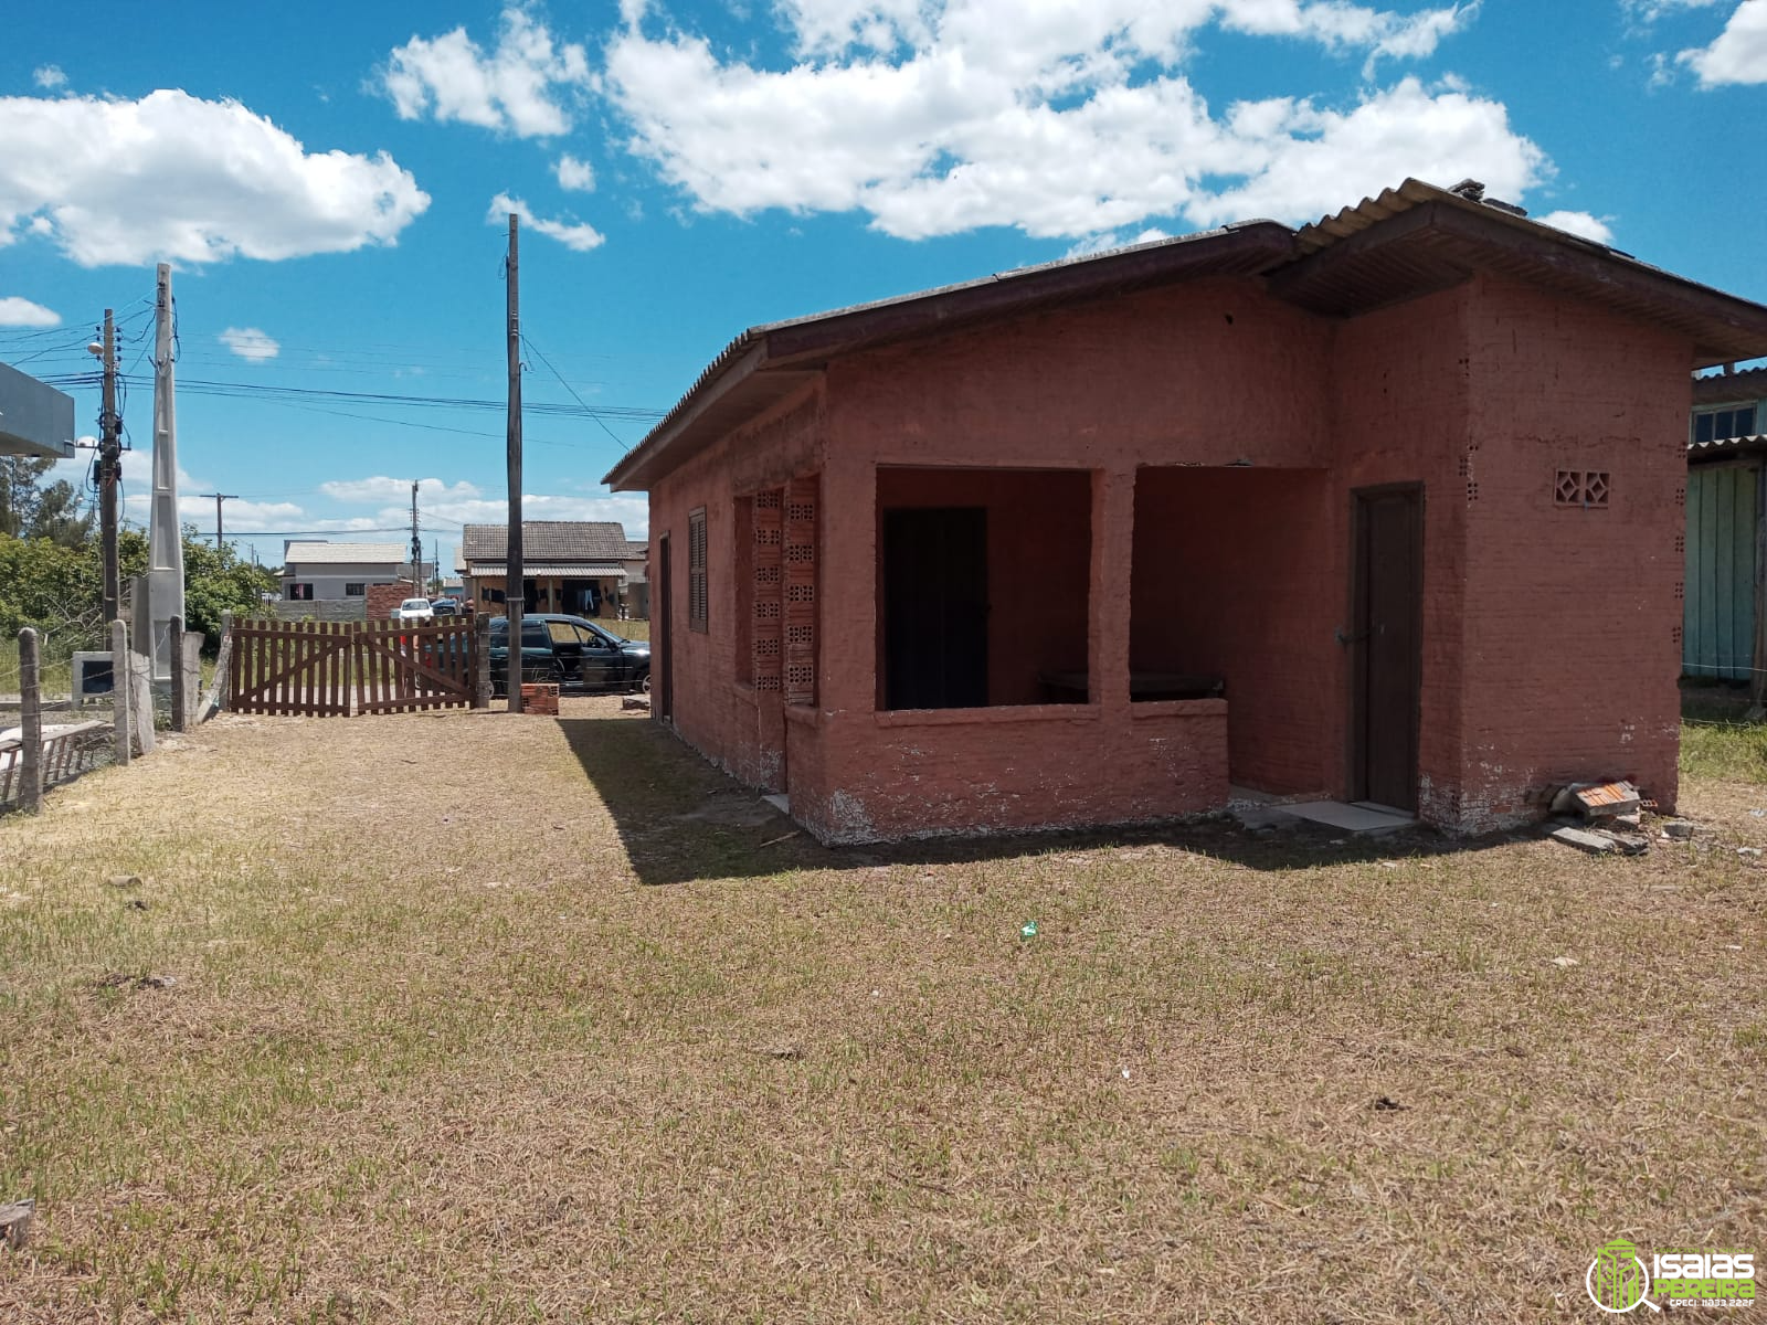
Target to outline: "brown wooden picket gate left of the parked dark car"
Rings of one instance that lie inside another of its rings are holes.
[[[346,717],[474,701],[477,638],[470,620],[235,622],[228,708],[240,714]]]

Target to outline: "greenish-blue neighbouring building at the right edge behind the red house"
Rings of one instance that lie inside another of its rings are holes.
[[[1767,691],[1762,640],[1767,516],[1767,367],[1693,380],[1687,433],[1687,574],[1680,670]]]

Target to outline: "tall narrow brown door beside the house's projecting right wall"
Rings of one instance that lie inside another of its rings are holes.
[[[1417,809],[1422,488],[1355,493],[1352,795]]]

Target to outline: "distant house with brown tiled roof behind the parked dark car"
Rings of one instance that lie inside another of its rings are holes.
[[[521,574],[527,611],[573,617],[650,615],[645,555],[611,519],[523,519]],[[509,526],[466,525],[459,539],[459,571],[479,611],[497,611],[507,583]]]

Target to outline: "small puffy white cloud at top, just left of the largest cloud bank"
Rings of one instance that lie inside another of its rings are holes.
[[[401,120],[426,113],[518,138],[550,138],[571,127],[565,99],[590,81],[588,57],[571,42],[553,42],[527,11],[504,9],[497,48],[486,51],[466,28],[440,37],[412,37],[392,51],[380,90]]]

